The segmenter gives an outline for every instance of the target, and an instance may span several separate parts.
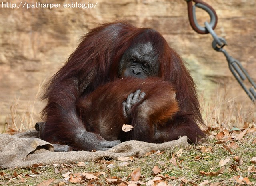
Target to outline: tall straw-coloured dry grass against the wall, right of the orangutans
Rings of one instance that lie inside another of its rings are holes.
[[[233,126],[242,128],[245,122],[256,122],[256,104],[236,102],[235,98],[228,97],[225,87],[218,88],[210,101],[200,96],[200,103],[206,126],[230,129]]]

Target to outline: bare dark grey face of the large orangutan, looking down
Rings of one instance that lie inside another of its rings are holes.
[[[146,78],[158,75],[158,56],[154,54],[150,42],[138,44],[124,52],[119,66],[121,76]]]

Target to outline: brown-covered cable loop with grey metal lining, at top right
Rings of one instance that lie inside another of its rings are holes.
[[[190,25],[192,26],[193,30],[195,30],[199,34],[207,34],[209,33],[206,27],[202,27],[198,24],[196,19],[196,7],[202,8],[205,10],[210,16],[210,27],[214,30],[217,25],[218,17],[215,10],[205,2],[201,0],[186,0],[188,4],[188,18]],[[196,4],[193,5],[192,1]]]

